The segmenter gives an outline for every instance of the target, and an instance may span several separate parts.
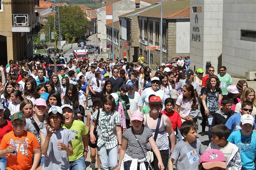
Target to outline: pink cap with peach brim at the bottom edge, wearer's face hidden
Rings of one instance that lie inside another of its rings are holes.
[[[204,169],[212,169],[214,167],[227,168],[225,156],[218,149],[205,151],[200,157],[200,163],[202,163]]]

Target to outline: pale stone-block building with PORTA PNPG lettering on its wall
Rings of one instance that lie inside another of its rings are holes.
[[[190,68],[211,62],[215,73],[226,66],[228,74],[245,77],[256,70],[256,2],[251,0],[191,0]]]

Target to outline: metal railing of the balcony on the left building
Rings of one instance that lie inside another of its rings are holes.
[[[30,14],[12,14],[12,26],[30,26]]]

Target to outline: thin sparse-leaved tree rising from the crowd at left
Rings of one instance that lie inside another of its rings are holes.
[[[60,48],[59,48],[58,47],[58,42],[60,40],[59,34],[56,33],[55,29],[53,29],[53,32],[54,32],[54,39],[55,39],[55,42],[53,42],[54,43],[54,56],[51,57],[51,53],[48,53],[46,48],[44,48],[44,52],[48,55],[49,58],[50,57],[52,58],[52,61],[54,63],[54,72],[57,73],[57,61],[58,61],[58,59],[60,58],[61,55],[66,54],[68,52],[68,50],[72,49],[73,43],[75,41],[75,37],[73,37],[73,39],[71,41],[71,47],[69,47],[67,50],[62,51],[62,48],[67,44],[67,42],[69,40],[68,39],[68,34],[65,35],[66,42],[62,46],[60,46]],[[36,38],[37,39],[36,44],[41,45],[42,47],[44,47],[43,46],[43,41],[40,41],[40,34],[41,34],[41,32],[38,33],[38,36]]]

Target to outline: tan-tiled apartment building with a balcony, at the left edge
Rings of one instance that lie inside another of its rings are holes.
[[[36,16],[37,1],[0,0],[0,61],[20,60],[33,55],[33,36],[37,36],[39,21]],[[12,3],[12,4],[11,4]],[[14,4],[15,3],[15,4]]]

